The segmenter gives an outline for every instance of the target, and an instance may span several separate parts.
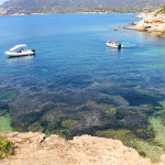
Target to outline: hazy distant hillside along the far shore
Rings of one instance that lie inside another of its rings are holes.
[[[165,0],[10,0],[0,6],[0,13],[139,12],[164,4]]]

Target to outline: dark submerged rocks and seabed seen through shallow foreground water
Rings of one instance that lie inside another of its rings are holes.
[[[81,88],[51,81],[47,88],[34,84],[23,88],[1,84],[2,131],[43,132],[65,139],[81,134],[116,139],[153,162],[158,162],[165,152],[163,90],[99,81]]]

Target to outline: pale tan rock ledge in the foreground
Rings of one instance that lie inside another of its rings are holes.
[[[1,160],[1,165],[152,164],[148,158],[141,157],[135,150],[111,139],[82,135],[65,141],[58,135],[45,138],[45,134],[32,132],[4,132],[3,135],[15,145],[14,155]],[[157,165],[164,164],[165,155]]]

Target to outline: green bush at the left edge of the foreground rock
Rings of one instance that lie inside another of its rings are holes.
[[[0,158],[3,158],[13,153],[13,143],[8,142],[2,135],[0,135]]]

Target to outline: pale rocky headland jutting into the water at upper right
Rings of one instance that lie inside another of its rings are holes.
[[[143,20],[130,23],[131,26],[128,29],[151,33],[158,37],[165,37],[165,13],[161,13],[160,10],[162,9],[150,13],[140,13],[136,18]]]

